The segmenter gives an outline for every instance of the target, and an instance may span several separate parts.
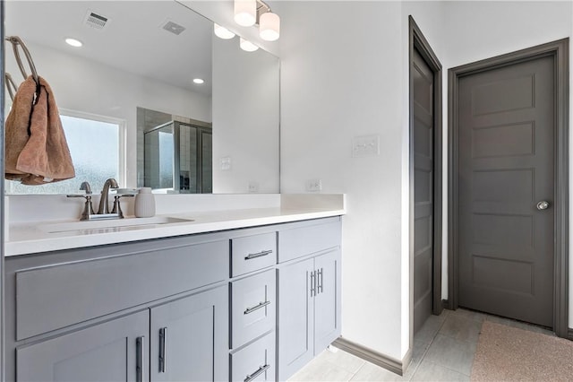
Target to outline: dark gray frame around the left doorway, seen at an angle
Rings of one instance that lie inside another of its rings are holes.
[[[410,348],[414,339],[414,51],[423,57],[433,74],[433,248],[432,248],[432,314],[440,315],[441,301],[441,247],[442,247],[442,76],[440,60],[423,36],[414,18],[408,17],[408,73],[409,73],[409,266],[410,266]]]

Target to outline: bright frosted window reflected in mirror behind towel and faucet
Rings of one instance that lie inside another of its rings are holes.
[[[70,194],[77,192],[83,181],[90,182],[92,192],[101,191],[107,178],[115,178],[120,187],[125,187],[120,177],[119,123],[104,122],[94,117],[71,117],[60,115],[65,138],[72,154],[75,178],[42,186],[25,186],[6,180],[10,194]]]

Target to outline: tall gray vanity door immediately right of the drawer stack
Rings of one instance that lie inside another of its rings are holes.
[[[314,355],[313,259],[278,269],[278,380],[286,380]]]

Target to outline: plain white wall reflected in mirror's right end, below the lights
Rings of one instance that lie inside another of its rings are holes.
[[[238,38],[213,37],[212,46],[213,192],[278,193],[280,61],[245,52]]]

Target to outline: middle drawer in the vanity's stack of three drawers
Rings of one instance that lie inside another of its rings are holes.
[[[231,282],[231,349],[274,329],[275,272],[271,269]]]

